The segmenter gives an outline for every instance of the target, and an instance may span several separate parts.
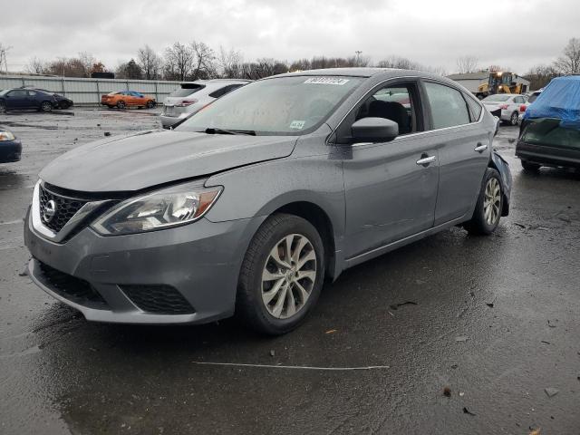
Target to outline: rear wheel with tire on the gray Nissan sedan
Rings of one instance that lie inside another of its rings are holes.
[[[494,232],[503,210],[502,194],[499,172],[488,168],[481,182],[473,217],[464,225],[469,234],[488,236]]]

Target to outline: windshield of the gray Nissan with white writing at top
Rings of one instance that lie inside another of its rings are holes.
[[[227,93],[176,130],[304,134],[322,124],[362,80],[299,75],[254,82]]]

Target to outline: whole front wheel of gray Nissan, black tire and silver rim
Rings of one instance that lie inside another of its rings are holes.
[[[324,281],[324,244],[303,218],[267,218],[247,248],[237,286],[236,314],[254,330],[288,333],[304,321]]]

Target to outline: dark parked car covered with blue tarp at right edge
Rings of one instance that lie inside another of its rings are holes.
[[[538,93],[524,114],[516,156],[528,171],[580,168],[580,76],[557,77]]]

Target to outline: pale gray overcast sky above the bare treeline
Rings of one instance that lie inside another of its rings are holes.
[[[455,70],[461,55],[526,73],[580,37],[577,0],[0,0],[9,69],[92,53],[114,70],[148,43],[220,45],[244,60],[391,55]]]

